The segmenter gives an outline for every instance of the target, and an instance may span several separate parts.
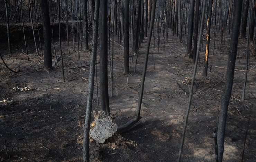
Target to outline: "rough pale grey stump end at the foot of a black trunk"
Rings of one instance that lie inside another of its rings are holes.
[[[117,124],[113,123],[113,115],[105,111],[93,111],[95,120],[91,124],[90,135],[98,143],[104,143],[117,131]]]

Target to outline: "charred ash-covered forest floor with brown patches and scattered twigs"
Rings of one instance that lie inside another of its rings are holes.
[[[188,85],[181,82],[192,77],[193,64],[185,55],[184,44],[178,43],[176,36],[172,35],[170,33],[168,43],[161,40],[159,52],[157,36],[153,38],[141,107],[143,118],[128,132],[115,134],[104,144],[91,139],[90,161],[176,161],[189,91]],[[220,96],[226,76],[226,70],[216,66],[227,67],[228,39],[226,36],[226,42],[220,48],[216,42],[214,55],[211,48],[209,65],[212,68],[208,77],[202,76],[204,53],[201,52],[182,161],[214,161],[212,133],[218,125]],[[117,113],[115,122],[118,125],[128,122],[136,113],[145,42],[146,39],[138,56],[137,71],[134,72],[135,63],[132,63],[128,75],[122,74],[123,49],[114,44],[114,97],[110,98],[110,110]],[[55,46],[58,52],[57,42]],[[236,69],[245,70],[246,42],[239,41],[238,46]],[[22,44],[13,44],[16,49],[13,54],[7,53],[7,47],[6,44],[1,45],[3,59],[19,73],[7,70],[1,61],[0,161],[81,161],[90,51],[80,50],[79,63],[77,51],[76,56],[72,49],[68,54],[67,42],[63,41],[66,78],[63,82],[59,66],[50,71],[43,68],[43,58],[33,53],[32,40],[29,45],[30,61],[22,53],[21,49],[25,51]],[[251,57],[249,69],[255,64],[255,58]],[[86,66],[81,67],[83,65]],[[235,71],[224,161],[238,162],[242,156],[244,161],[256,160],[255,71],[253,68],[248,72],[245,101],[241,101],[245,75],[243,71]],[[110,78],[108,81],[110,93]],[[15,87],[31,89],[19,91],[13,89]],[[93,110],[98,111],[96,87],[95,82]]]

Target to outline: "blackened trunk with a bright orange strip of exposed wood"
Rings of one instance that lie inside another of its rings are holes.
[[[205,62],[203,68],[203,76],[207,76],[208,71],[208,59],[209,59],[209,49],[210,49],[210,33],[211,33],[211,19],[212,19],[212,0],[209,0],[209,10],[208,10],[208,20],[207,20],[207,31],[206,31],[206,50],[205,50]]]

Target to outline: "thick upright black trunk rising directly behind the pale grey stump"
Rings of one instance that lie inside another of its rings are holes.
[[[101,109],[109,110],[108,95],[108,2],[100,1],[100,89],[101,89]]]

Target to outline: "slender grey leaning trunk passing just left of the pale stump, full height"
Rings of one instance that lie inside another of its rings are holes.
[[[95,2],[95,15],[93,16],[93,33],[92,33],[92,55],[91,55],[91,66],[89,74],[89,85],[88,85],[88,96],[86,104],[86,114],[84,121],[84,142],[83,142],[83,162],[89,162],[89,133],[90,133],[90,123],[92,114],[92,98],[93,98],[93,88],[94,88],[94,74],[96,65],[96,55],[98,47],[98,24],[99,24],[99,2]],[[97,76],[97,75],[96,75]]]

